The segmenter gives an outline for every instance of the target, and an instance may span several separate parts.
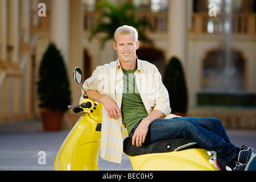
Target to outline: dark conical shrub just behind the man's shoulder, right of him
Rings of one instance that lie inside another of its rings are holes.
[[[172,113],[185,116],[188,104],[187,86],[182,65],[177,57],[172,57],[166,66],[163,83],[169,93]]]

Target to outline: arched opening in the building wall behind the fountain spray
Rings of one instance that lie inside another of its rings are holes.
[[[203,61],[203,91],[242,92],[245,89],[244,78],[245,60],[240,52],[235,50],[227,52],[225,49],[208,52]]]

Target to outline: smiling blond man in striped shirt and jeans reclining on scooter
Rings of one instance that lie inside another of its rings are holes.
[[[119,59],[97,67],[83,85],[91,100],[104,105],[103,159],[121,163],[122,142],[128,134],[136,146],[163,139],[192,139],[206,150],[216,151],[222,169],[244,170],[254,159],[252,148],[240,150],[230,142],[220,120],[170,114],[168,92],[158,69],[136,56],[139,41],[135,28],[119,27],[113,46]]]

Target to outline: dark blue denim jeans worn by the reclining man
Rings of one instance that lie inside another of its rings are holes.
[[[131,130],[131,137],[139,123]],[[240,148],[234,146],[226,134],[219,119],[180,117],[173,119],[156,119],[148,128],[144,143],[153,143],[164,139],[189,138],[200,147],[215,151],[217,162],[222,169],[235,167],[233,160]]]

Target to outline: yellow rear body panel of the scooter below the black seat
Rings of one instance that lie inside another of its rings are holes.
[[[191,148],[167,153],[129,156],[134,171],[217,171],[207,150]]]

